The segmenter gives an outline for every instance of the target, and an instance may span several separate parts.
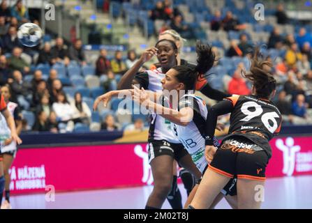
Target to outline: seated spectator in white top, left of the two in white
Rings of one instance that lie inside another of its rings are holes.
[[[67,123],[75,118],[75,111],[73,107],[70,106],[66,94],[63,91],[57,94],[57,102],[53,103],[52,109],[57,115],[57,118],[62,122]],[[73,128],[71,130],[73,130]]]

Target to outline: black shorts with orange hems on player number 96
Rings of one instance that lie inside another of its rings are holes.
[[[269,157],[265,150],[245,137],[230,137],[222,141],[209,169],[233,178],[265,180]]]

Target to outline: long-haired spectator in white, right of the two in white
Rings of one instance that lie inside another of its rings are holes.
[[[71,103],[71,106],[76,113],[75,117],[77,121],[81,123],[89,124],[91,120],[91,111],[86,102],[82,101],[82,95],[79,92],[75,93],[75,100]]]

